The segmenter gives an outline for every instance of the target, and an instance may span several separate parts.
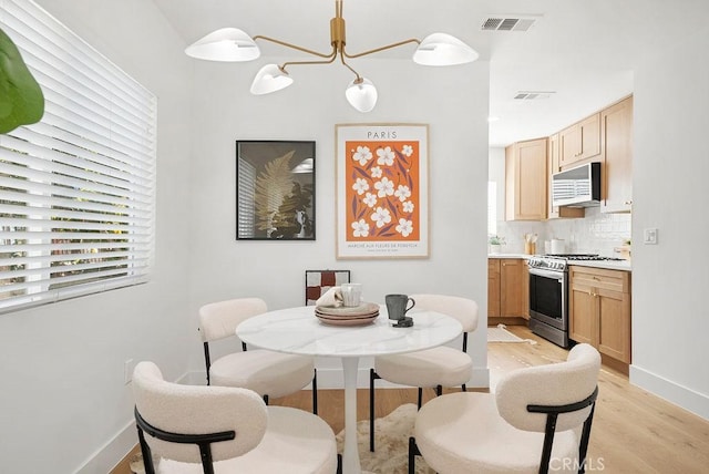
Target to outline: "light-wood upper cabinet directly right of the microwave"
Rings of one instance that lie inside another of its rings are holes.
[[[600,112],[602,213],[629,213],[633,205],[633,96]]]

